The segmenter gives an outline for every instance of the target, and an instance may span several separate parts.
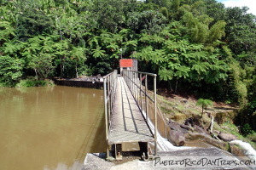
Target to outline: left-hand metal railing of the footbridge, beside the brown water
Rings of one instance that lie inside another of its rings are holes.
[[[113,71],[103,77],[104,80],[104,106],[105,106],[105,124],[107,140],[107,157],[108,157],[108,128],[110,126],[110,116],[113,110],[113,101],[117,82],[117,71]]]

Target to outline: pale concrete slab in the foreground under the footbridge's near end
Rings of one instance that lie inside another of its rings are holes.
[[[90,169],[99,169],[99,170],[133,170],[133,169],[142,169],[142,170],[154,170],[154,169],[180,169],[183,165],[175,165],[168,164],[167,162],[172,161],[172,159],[176,157],[177,160],[183,161],[183,159],[190,159],[192,157],[200,157],[205,160],[215,159],[215,158],[223,158],[227,160],[236,160],[239,161],[235,156],[232,156],[229,152],[224,150],[219,150],[216,147],[210,148],[201,148],[195,147],[187,150],[170,150],[165,152],[159,152],[157,156],[154,156],[154,159],[151,161],[140,161],[138,158],[130,158],[128,161],[105,161],[105,154],[102,153],[93,153],[87,154],[84,160],[84,167],[82,170],[90,170]],[[166,163],[163,163],[166,161]],[[161,162],[161,163],[160,163]],[[183,163],[181,163],[183,164]],[[191,167],[183,167],[183,169],[191,169]],[[201,165],[202,169],[209,169],[210,165]],[[224,165],[216,165],[216,168],[224,168],[227,166]],[[211,168],[210,168],[211,169]],[[236,168],[240,169],[240,168]],[[249,169],[243,167],[242,169]]]

